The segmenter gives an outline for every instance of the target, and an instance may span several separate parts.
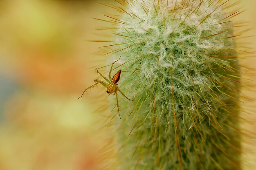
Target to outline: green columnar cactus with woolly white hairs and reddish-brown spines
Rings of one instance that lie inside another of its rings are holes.
[[[121,170],[240,170],[240,65],[229,0],[104,4],[119,60]],[[117,64],[117,66],[118,66]]]

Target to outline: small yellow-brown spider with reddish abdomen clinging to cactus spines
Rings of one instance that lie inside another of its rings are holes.
[[[118,60],[116,60],[115,62],[119,61],[120,58]],[[85,91],[83,92],[83,94],[90,88],[96,86],[97,84],[102,84],[104,87],[107,88],[107,93],[108,94],[112,94],[114,93],[114,95],[116,95],[116,99],[117,99],[117,110],[118,110],[118,114],[119,114],[119,117],[121,119],[121,116],[120,116],[120,113],[119,113],[119,105],[118,105],[118,97],[117,97],[117,91],[119,91],[126,99],[130,100],[130,101],[134,101],[132,99],[129,99],[128,97],[126,97],[126,95],[124,95],[124,93],[117,87],[117,82],[119,82],[119,79],[120,79],[120,75],[121,75],[121,70],[117,71],[117,73],[113,76],[113,78],[111,78],[111,71],[112,71],[112,68],[113,68],[113,65],[115,64],[115,62],[113,62],[111,64],[111,68],[110,68],[110,71],[109,71],[109,74],[108,74],[108,77],[109,79],[107,79],[107,77],[105,77],[103,74],[101,74],[99,72],[99,70],[97,69],[97,73],[99,75],[101,75],[101,77],[103,77],[106,82],[103,82],[99,79],[94,79],[94,82],[95,84],[93,84],[92,86],[88,87],[85,89]],[[83,94],[81,95],[81,97],[83,96]],[[78,99],[80,99],[81,97],[79,97]]]

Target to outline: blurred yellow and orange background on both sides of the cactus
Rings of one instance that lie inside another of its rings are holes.
[[[86,40],[104,26],[92,19],[108,10],[97,2],[110,1],[0,0],[0,170],[102,170],[110,163],[102,163],[101,153],[111,130],[97,125],[111,111],[104,97],[95,99],[103,88],[77,99],[107,60],[97,56],[99,44]],[[244,35],[256,35],[256,1],[238,7],[245,11],[236,20],[252,28]],[[246,41],[256,46],[255,37]],[[256,68],[255,57],[242,62]],[[256,82],[256,75],[250,79]],[[254,90],[243,93],[254,98]],[[243,127],[251,132],[255,105],[243,106],[249,113]],[[244,142],[245,170],[255,170],[254,144]]]

